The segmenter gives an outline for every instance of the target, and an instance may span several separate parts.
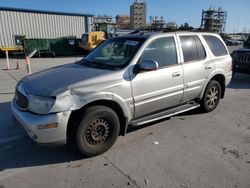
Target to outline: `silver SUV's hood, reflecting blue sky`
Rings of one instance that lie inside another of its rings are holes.
[[[115,78],[113,74],[110,75],[111,73],[114,71],[68,64],[27,76],[19,84],[23,85],[27,94],[56,96],[64,91],[86,85],[99,85],[114,81]]]

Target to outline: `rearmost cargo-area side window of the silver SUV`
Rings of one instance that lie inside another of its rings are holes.
[[[215,56],[227,55],[227,50],[220,39],[212,35],[203,35],[203,38]]]

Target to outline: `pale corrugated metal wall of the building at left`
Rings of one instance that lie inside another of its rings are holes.
[[[15,47],[15,35],[80,38],[88,30],[85,21],[85,16],[0,10],[0,47]]]

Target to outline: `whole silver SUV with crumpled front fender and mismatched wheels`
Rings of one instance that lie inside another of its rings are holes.
[[[79,62],[23,78],[12,112],[38,143],[107,151],[128,125],[194,108],[212,111],[232,77],[216,34],[137,33],[110,38]]]

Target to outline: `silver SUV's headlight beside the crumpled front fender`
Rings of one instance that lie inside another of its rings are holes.
[[[37,114],[46,114],[54,105],[55,97],[41,97],[37,95],[28,95],[29,110]]]

